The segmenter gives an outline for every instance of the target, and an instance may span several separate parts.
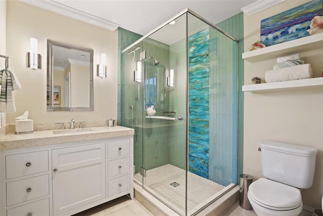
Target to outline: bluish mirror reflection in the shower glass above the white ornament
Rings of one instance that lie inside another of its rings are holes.
[[[144,107],[165,109],[165,66],[145,64]]]

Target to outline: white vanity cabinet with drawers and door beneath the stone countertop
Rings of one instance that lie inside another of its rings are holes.
[[[0,215],[72,215],[133,199],[133,136],[2,150]]]

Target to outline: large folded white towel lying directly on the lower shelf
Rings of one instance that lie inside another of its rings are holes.
[[[310,64],[301,64],[292,67],[284,67],[277,70],[266,71],[264,76],[266,82],[279,82],[312,78],[313,73]]]

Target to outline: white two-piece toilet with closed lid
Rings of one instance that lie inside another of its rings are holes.
[[[303,208],[300,189],[312,187],[317,149],[261,141],[262,175],[250,184],[249,202],[257,215],[298,215]]]

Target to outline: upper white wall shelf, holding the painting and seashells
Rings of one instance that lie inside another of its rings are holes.
[[[259,50],[246,52],[242,54],[242,59],[252,63],[317,49],[323,49],[323,33],[318,33],[270,47],[265,47]]]

